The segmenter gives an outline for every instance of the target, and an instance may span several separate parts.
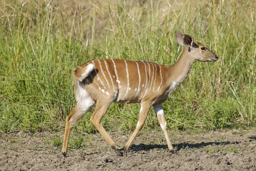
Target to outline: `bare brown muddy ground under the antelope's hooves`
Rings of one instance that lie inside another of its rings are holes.
[[[85,135],[86,149],[61,148],[47,143],[62,133],[0,135],[0,171],[256,171],[256,129],[206,133],[171,132],[178,154],[168,152],[162,132],[139,133],[128,157],[119,157],[100,134]],[[111,133],[122,146],[129,135]]]

